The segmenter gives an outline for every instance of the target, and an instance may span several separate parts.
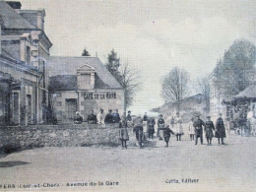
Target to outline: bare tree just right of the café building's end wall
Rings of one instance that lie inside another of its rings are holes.
[[[120,68],[120,84],[124,89],[125,110],[133,104],[134,96],[136,95],[141,82],[140,72],[132,68],[128,63],[123,64]]]

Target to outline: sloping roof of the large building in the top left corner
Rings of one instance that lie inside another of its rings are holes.
[[[35,29],[26,19],[18,14],[13,8],[6,2],[0,0],[0,17],[3,22],[3,26],[6,29]]]

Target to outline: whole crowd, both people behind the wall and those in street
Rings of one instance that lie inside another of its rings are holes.
[[[214,137],[218,138],[219,144],[224,145],[225,138],[225,128],[224,120],[222,118],[222,113],[219,114],[216,125],[211,120],[211,116],[207,117],[206,122],[200,119],[200,115],[195,115],[195,118],[191,118],[188,124],[188,131],[190,135],[190,140],[195,140],[195,145],[198,144],[198,138],[200,138],[201,144],[203,144],[203,127],[205,130],[205,137],[207,139],[208,146],[212,145],[212,139]],[[83,117],[76,113],[74,118],[74,123],[80,124],[83,122]],[[88,115],[87,122],[89,124],[110,124],[119,123],[119,139],[121,140],[122,147],[127,148],[127,141],[129,141],[129,129],[133,130],[136,135],[136,140],[139,143],[139,147],[143,147],[143,141],[145,140],[144,127],[147,127],[147,134],[149,139],[154,138],[155,125],[158,125],[157,137],[160,140],[164,140],[166,143],[165,147],[168,147],[170,135],[176,136],[176,141],[181,141],[181,136],[184,135],[183,132],[183,121],[180,117],[179,112],[176,112],[175,117],[167,118],[166,123],[160,114],[158,122],[156,123],[154,117],[149,117],[147,113],[141,117],[141,115],[132,118],[131,111],[124,112],[121,116],[118,113],[118,109],[112,112],[111,109],[108,113],[104,115],[103,109],[100,109],[99,113],[95,115],[94,110]]]

